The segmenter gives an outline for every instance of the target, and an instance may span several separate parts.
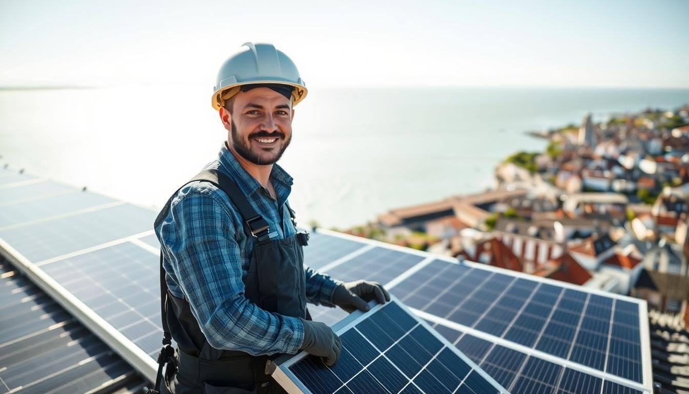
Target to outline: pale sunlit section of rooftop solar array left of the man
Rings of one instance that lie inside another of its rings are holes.
[[[107,346],[154,380],[163,335],[156,213],[0,171],[0,249]]]

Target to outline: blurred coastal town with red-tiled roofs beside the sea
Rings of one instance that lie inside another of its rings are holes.
[[[495,186],[346,232],[646,299],[653,378],[689,390],[689,105],[543,132]]]

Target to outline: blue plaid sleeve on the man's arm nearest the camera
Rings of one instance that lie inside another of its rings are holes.
[[[245,297],[234,233],[222,202],[204,189],[173,201],[159,238],[211,346],[251,355],[296,353],[304,337],[302,322],[264,311]]]

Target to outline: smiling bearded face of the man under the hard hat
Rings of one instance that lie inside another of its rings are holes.
[[[230,148],[259,166],[274,164],[285,152],[291,141],[292,117],[289,99],[270,88],[238,92],[232,115],[220,108]]]

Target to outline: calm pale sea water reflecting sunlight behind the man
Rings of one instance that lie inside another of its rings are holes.
[[[0,91],[0,163],[159,208],[227,137],[209,96],[183,86]],[[342,228],[490,187],[506,155],[544,147],[526,130],[686,103],[689,90],[312,88],[279,164],[294,177],[300,222]]]

